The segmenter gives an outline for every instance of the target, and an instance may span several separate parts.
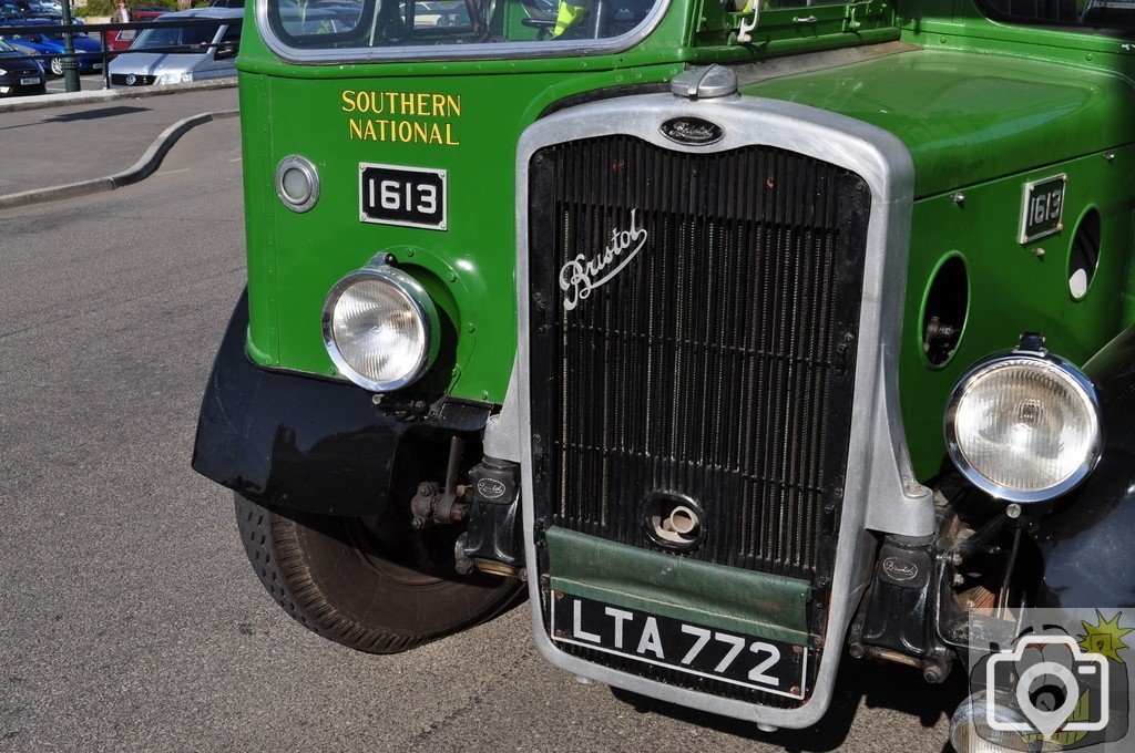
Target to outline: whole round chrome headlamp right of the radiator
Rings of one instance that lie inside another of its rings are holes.
[[[1100,404],[1092,382],[1046,353],[1039,336],[978,362],[945,409],[945,445],[978,489],[1041,502],[1082,482],[1100,459]]]

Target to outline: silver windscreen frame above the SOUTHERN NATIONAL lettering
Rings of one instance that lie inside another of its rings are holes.
[[[420,44],[413,46],[347,48],[319,50],[286,44],[268,19],[268,0],[257,2],[257,28],[260,37],[277,57],[300,65],[321,62],[426,62],[431,60],[498,60],[502,58],[569,58],[578,56],[616,54],[634,46],[662,23],[671,0],[658,0],[642,23],[621,36],[605,40],[556,42],[501,42],[497,44]]]

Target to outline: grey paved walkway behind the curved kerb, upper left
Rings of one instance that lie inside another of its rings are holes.
[[[0,113],[0,195],[119,172],[182,118],[236,108],[233,87]]]

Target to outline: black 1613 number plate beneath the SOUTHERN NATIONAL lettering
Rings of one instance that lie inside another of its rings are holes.
[[[359,164],[359,219],[378,225],[445,230],[446,171]]]

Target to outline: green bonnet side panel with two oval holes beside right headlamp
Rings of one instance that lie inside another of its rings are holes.
[[[1107,153],[1115,159],[1104,159]],[[1060,172],[1068,174],[1067,229],[1018,244],[1023,184]],[[932,477],[947,463],[942,412],[950,389],[974,362],[1015,346],[1022,332],[1039,331],[1053,353],[1082,364],[1123,325],[1132,195],[1135,149],[1125,146],[968,187],[960,205],[949,194],[915,204],[899,375],[907,443],[919,479]],[[1092,209],[1100,213],[1100,264],[1087,295],[1076,302],[1068,290],[1069,252],[1074,229]],[[930,280],[949,255],[966,264],[969,311],[957,350],[935,369],[923,353],[920,312]]]

